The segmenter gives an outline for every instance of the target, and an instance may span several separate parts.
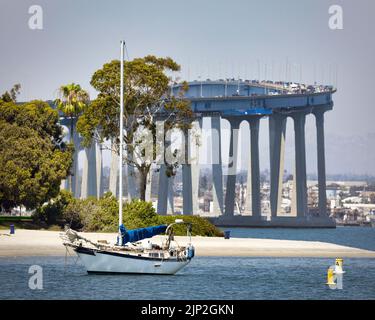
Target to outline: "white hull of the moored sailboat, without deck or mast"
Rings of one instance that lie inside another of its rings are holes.
[[[88,273],[100,274],[175,274],[190,259],[153,259],[121,253],[76,250]]]

